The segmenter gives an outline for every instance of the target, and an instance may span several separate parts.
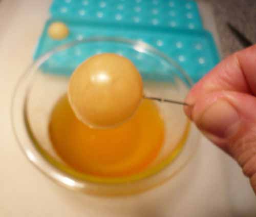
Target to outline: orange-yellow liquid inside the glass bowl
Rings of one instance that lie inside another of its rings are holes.
[[[123,177],[143,171],[163,145],[164,122],[154,101],[143,100],[122,125],[93,129],[74,115],[66,96],[53,108],[50,138],[68,165],[88,175]]]

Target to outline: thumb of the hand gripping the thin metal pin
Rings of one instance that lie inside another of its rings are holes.
[[[197,101],[192,119],[212,142],[232,156],[256,193],[256,98],[230,91]]]

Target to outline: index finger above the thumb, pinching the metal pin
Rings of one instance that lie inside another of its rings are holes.
[[[236,91],[256,95],[256,45],[221,61],[190,90],[186,102],[194,105],[214,91]],[[189,109],[185,108],[190,117]]]

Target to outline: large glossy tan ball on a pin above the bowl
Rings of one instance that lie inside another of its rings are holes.
[[[68,97],[76,117],[94,128],[116,126],[129,119],[143,96],[134,64],[117,54],[95,55],[70,78]]]

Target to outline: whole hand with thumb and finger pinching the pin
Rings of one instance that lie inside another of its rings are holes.
[[[189,92],[186,115],[242,167],[256,194],[256,45],[221,61]]]

